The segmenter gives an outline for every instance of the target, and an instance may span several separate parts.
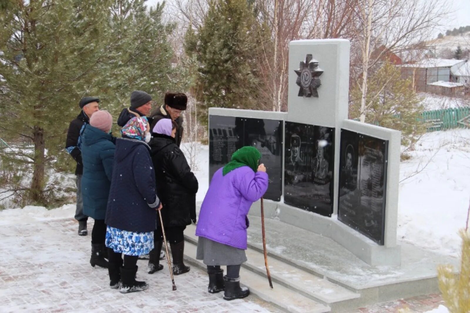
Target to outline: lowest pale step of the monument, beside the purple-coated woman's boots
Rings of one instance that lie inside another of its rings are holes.
[[[206,266],[200,260],[196,260],[197,246],[193,240],[186,241],[185,260],[188,263],[206,270]],[[295,313],[324,313],[330,312],[328,305],[316,302],[309,297],[299,294],[296,290],[290,290],[282,285],[275,285],[274,289],[269,288],[266,277],[253,273],[251,270],[242,267],[240,269],[241,285],[250,289],[252,295],[271,303],[272,305],[286,311]],[[222,294],[221,294],[222,295]]]

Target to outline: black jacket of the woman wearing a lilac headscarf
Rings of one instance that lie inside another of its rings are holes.
[[[157,180],[157,195],[163,203],[165,227],[181,227],[196,221],[198,183],[186,157],[170,136],[155,134],[149,142]]]

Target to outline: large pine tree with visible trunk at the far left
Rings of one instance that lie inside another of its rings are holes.
[[[83,86],[98,75],[108,7],[108,1],[22,0],[0,8],[0,129],[4,138],[34,145],[3,156],[2,166],[27,170],[21,180],[27,202],[45,203],[54,191],[46,189],[47,171],[64,154]]]

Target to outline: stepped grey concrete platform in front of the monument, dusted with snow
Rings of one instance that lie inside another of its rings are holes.
[[[267,202],[266,202],[267,204]],[[379,302],[439,293],[437,266],[456,258],[401,244],[399,266],[370,266],[333,239],[282,222],[265,205],[268,264],[274,289],[266,279],[261,219],[251,215],[248,228],[248,261],[241,282],[254,296],[287,312],[349,312]],[[252,207],[251,213],[259,213]],[[195,259],[195,226],[185,231],[185,258],[205,269]]]

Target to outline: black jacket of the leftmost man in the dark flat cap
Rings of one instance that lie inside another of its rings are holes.
[[[75,175],[83,174],[83,164],[82,164],[82,138],[81,133],[85,128],[85,124],[89,124],[90,119],[81,111],[78,114],[77,118],[71,121],[69,125],[69,131],[67,132],[67,140],[65,141],[65,149],[77,162],[77,167],[75,168]]]

